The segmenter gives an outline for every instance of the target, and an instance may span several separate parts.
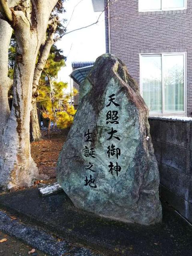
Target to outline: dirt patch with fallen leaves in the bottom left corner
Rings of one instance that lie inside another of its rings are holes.
[[[1,242],[1,239],[7,239],[4,242]],[[24,244],[19,239],[16,239],[12,236],[9,236],[0,231],[0,256],[49,256],[39,250],[32,251],[31,246]],[[29,254],[29,252],[31,252]]]

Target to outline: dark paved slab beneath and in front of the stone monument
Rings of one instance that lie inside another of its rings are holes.
[[[152,226],[101,218],[75,208],[64,192],[41,197],[38,188],[1,195],[0,208],[106,256],[192,255],[192,227],[166,204],[163,223]]]

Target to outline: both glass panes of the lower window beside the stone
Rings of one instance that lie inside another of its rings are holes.
[[[142,95],[151,112],[184,111],[184,62],[182,53],[141,56]]]

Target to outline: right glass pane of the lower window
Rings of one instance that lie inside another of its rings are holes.
[[[184,56],[163,56],[165,111],[184,111]]]

